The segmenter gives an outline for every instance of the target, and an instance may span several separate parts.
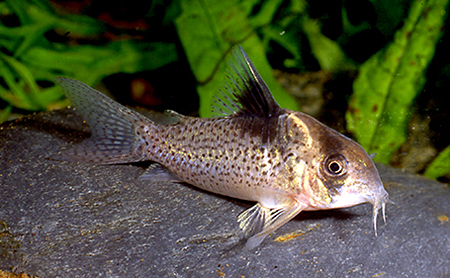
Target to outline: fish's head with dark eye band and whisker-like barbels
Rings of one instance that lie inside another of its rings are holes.
[[[302,120],[313,142],[308,184],[314,209],[371,203],[376,234],[378,211],[382,209],[386,221],[385,206],[392,202],[371,157],[358,143],[315,119],[305,115]]]

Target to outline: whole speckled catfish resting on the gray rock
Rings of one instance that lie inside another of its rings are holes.
[[[282,109],[241,48],[235,48],[228,82],[217,94],[215,118],[169,111],[157,124],[87,85],[56,78],[92,130],[92,136],[58,159],[99,164],[154,161],[143,179],[190,183],[255,201],[239,216],[258,246],[302,210],[389,202],[378,171],[356,142],[300,112]]]

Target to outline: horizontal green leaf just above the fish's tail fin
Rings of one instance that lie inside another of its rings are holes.
[[[60,50],[35,46],[21,57],[36,75],[48,73],[51,80],[59,75],[93,84],[118,72],[153,70],[178,59],[173,43],[112,42],[104,46],[79,45]]]

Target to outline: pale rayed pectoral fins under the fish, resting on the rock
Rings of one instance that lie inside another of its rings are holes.
[[[277,208],[266,208],[258,203],[244,211],[239,215],[238,222],[245,236],[250,237],[245,244],[245,249],[251,250],[257,247],[268,234],[294,218],[305,207],[302,203],[289,199],[289,202]]]

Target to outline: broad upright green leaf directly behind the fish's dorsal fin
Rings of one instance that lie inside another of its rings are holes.
[[[237,44],[252,59],[277,102],[282,107],[298,110],[293,97],[273,77],[263,43],[256,35],[257,26],[253,25],[270,22],[276,3],[264,6],[261,16],[255,15],[252,21],[248,16],[255,2],[181,0],[182,14],[175,24],[197,79],[202,117],[210,115],[212,96],[225,78],[227,55]]]

